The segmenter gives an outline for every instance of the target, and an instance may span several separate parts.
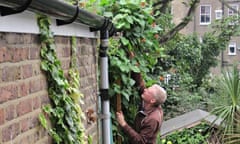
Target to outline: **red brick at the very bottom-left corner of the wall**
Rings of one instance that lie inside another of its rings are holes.
[[[2,129],[2,140],[3,142],[8,142],[14,139],[20,132],[19,123],[11,124]]]

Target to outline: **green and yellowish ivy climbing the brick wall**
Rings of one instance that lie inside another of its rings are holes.
[[[48,81],[50,104],[40,114],[41,125],[47,129],[57,144],[85,144],[86,136],[81,119],[84,113],[79,106],[83,94],[79,91],[79,73],[76,69],[76,39],[72,38],[72,59],[69,81],[64,77],[61,62],[56,56],[54,36],[47,16],[38,15],[41,41],[41,69]],[[51,124],[48,124],[48,120]]]

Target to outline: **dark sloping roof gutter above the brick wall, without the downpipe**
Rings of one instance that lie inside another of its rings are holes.
[[[115,33],[113,23],[106,17],[60,0],[0,0],[1,16],[20,13],[24,10],[54,17],[58,26],[74,22],[89,26],[90,31],[108,30],[109,36]]]

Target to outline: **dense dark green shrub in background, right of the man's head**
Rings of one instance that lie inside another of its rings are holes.
[[[180,77],[180,84],[191,84],[191,88],[198,88],[202,80],[209,74],[210,68],[217,66],[220,52],[226,49],[229,40],[222,40],[226,37],[222,31],[205,33],[200,41],[196,34],[181,36],[175,39],[175,43],[170,43],[165,59],[159,61],[164,70],[175,69]]]

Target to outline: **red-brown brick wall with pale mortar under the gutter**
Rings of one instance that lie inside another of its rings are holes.
[[[67,73],[70,64],[70,37],[55,37],[57,56]],[[78,66],[84,112],[97,111],[96,39],[78,38]],[[38,35],[0,32],[0,143],[50,144],[39,125],[42,105],[49,103],[47,81],[40,69]],[[98,124],[84,121],[86,132],[98,143]]]

